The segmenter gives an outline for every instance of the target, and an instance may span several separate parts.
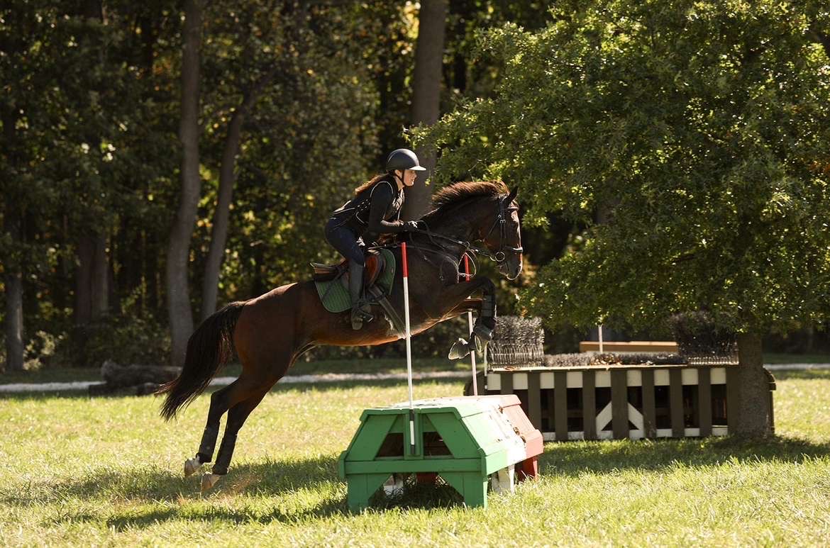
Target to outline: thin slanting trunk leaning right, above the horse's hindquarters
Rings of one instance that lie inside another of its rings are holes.
[[[219,268],[222,266],[222,257],[225,255],[227,242],[227,218],[230,213],[233,185],[237,180],[236,166],[242,143],[242,124],[251,110],[256,99],[271,83],[276,75],[276,67],[272,68],[246,95],[242,105],[237,109],[227,126],[225,149],[222,153],[222,166],[219,168],[219,196],[216,211],[213,214],[213,228],[211,232],[210,250],[205,262],[205,275],[202,286],[202,319],[207,319],[216,312],[217,292],[219,289]]]

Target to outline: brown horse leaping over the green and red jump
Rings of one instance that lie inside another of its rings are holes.
[[[522,248],[515,195],[502,182],[458,182],[444,187],[432,199],[434,209],[422,219],[425,230],[403,236],[408,239],[413,334],[473,309],[479,315],[471,347],[480,348],[490,339],[496,325],[495,286],[483,276],[458,283],[458,265],[464,253],[479,253],[495,260],[509,279],[519,276]],[[471,245],[476,241],[484,247]],[[399,245],[393,242],[390,247],[400,264]],[[478,290],[481,298],[467,298]],[[403,283],[398,276],[389,300],[403,316]],[[383,313],[379,307],[372,312],[378,318]],[[202,393],[234,350],[242,363],[239,378],[212,393],[202,444],[196,457],[185,462],[185,475],[211,462],[219,420],[226,411],[225,434],[212,473],[203,476],[203,491],[227,473],[242,424],[303,352],[318,345],[371,346],[398,338],[389,322],[380,319],[354,331],[349,312],[326,311],[311,281],[283,285],[214,313],[190,337],[181,375],[159,389],[160,394],[167,394],[161,415],[171,419]]]

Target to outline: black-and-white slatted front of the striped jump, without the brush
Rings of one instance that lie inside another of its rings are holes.
[[[486,393],[517,395],[545,441],[723,436],[735,428],[737,373],[737,365],[493,368]],[[772,376],[770,400],[771,390]]]

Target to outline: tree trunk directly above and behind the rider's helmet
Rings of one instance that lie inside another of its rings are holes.
[[[432,125],[438,121],[446,26],[447,0],[422,0],[413,74],[413,125]],[[435,168],[435,154],[423,149],[418,149],[416,153],[427,171],[418,173],[415,185],[407,189],[402,214],[407,221],[420,218],[427,212],[432,194],[426,182]]]

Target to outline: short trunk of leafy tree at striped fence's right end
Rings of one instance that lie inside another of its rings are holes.
[[[761,337],[754,333],[738,336],[738,401],[729,402],[730,412],[737,412],[733,434],[745,438],[762,438],[773,434],[771,376],[764,370]]]

